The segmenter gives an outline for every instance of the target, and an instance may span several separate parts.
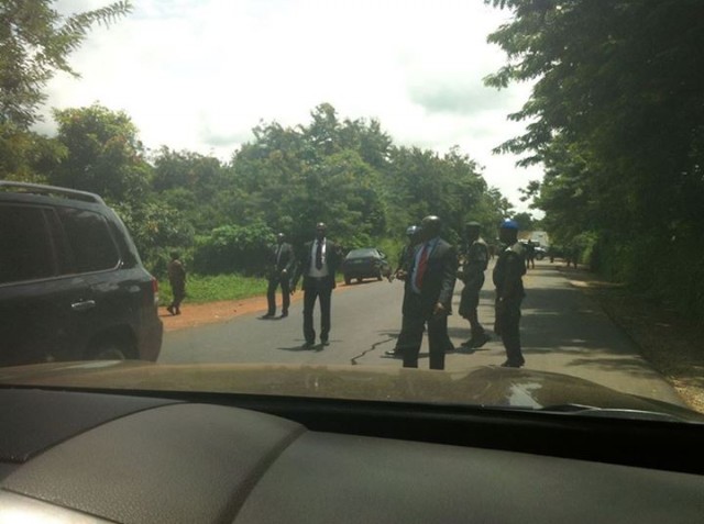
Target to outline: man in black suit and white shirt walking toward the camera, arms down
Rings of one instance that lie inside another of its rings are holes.
[[[342,257],[338,245],[326,237],[326,224],[319,222],[316,225],[316,238],[304,246],[302,263],[294,278],[293,291],[296,291],[298,279],[301,275],[304,277],[304,347],[312,347],[316,343],[316,330],[312,326],[316,299],[320,300],[320,343],[323,346],[330,344],[330,298]]]

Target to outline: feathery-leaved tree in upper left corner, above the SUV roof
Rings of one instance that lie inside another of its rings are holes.
[[[61,145],[30,126],[40,120],[44,88],[57,71],[78,74],[69,55],[96,24],[108,25],[132,9],[129,1],[68,16],[52,0],[0,2],[0,178],[46,181],[41,174],[64,155]]]

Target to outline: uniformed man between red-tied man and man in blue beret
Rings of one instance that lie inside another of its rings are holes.
[[[484,271],[488,265],[488,248],[480,236],[481,225],[479,222],[468,222],[464,231],[466,246],[462,254],[461,270],[464,289],[462,289],[462,298],[460,300],[460,315],[470,321],[472,337],[462,343],[462,346],[477,348],[490,341],[484,326],[480,324],[476,311],[480,304],[480,291],[484,286]]]

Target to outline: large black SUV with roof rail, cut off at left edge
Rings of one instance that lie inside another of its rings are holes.
[[[100,197],[0,181],[0,366],[156,360],[157,300],[156,279]]]

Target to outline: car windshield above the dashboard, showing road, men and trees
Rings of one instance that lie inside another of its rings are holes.
[[[704,413],[696,2],[0,12],[3,383]]]

